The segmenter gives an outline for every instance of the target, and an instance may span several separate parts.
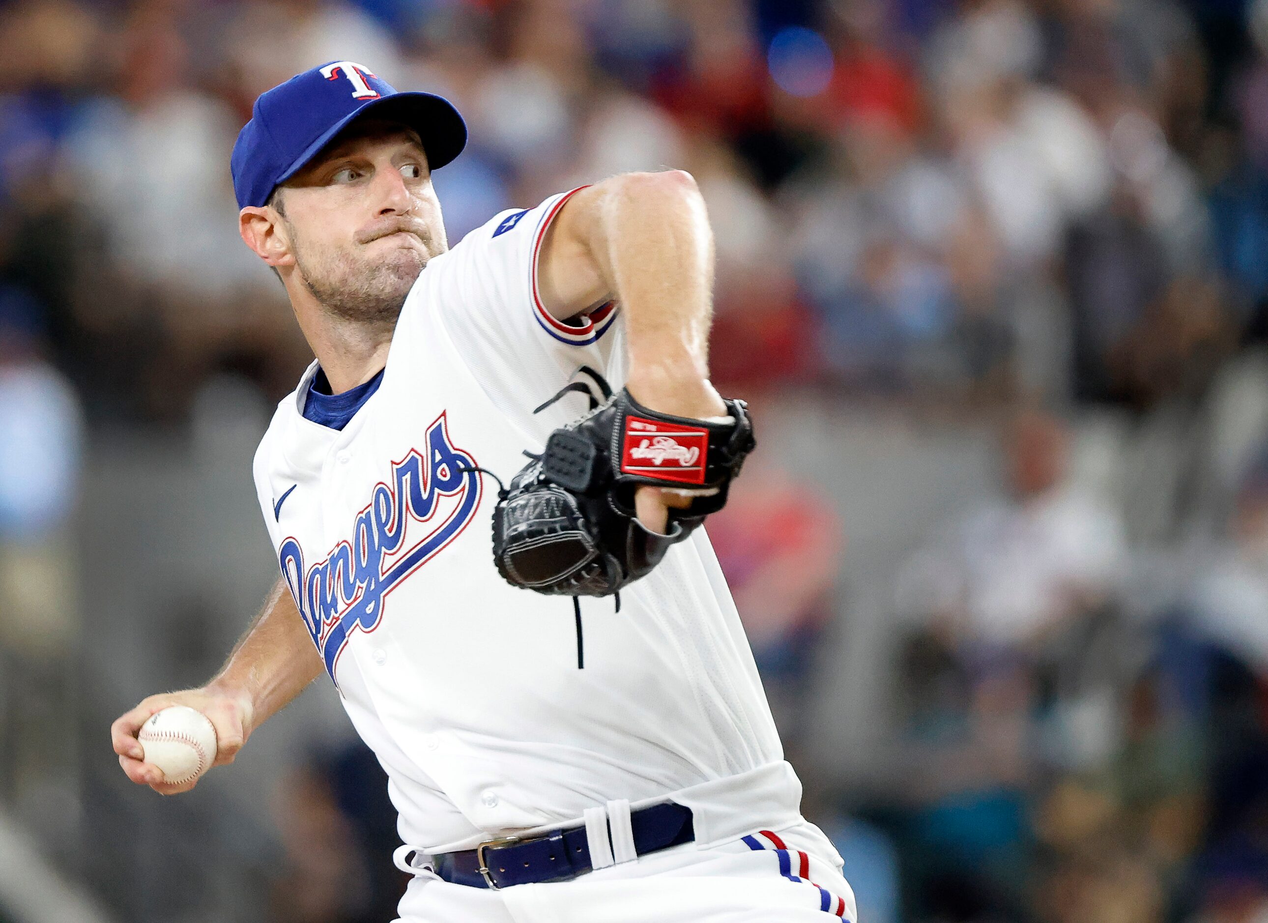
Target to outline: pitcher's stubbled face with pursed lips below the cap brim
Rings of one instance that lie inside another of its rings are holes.
[[[301,283],[332,314],[396,321],[445,226],[418,136],[354,124],[274,198]]]

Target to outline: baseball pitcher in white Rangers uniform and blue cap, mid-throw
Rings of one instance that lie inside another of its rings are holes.
[[[316,354],[255,456],[280,578],[205,714],[227,763],[320,673],[388,775],[401,920],[855,920],[701,525],[752,449],[708,378],[692,178],[626,174],[453,248],[446,100],[333,61],[256,100],[242,240]]]

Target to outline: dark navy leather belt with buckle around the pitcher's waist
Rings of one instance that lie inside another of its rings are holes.
[[[666,801],[630,811],[634,852],[639,856],[695,839],[691,809]],[[568,881],[593,870],[585,827],[552,830],[530,839],[502,837],[474,849],[431,857],[436,875],[455,885],[491,888]]]

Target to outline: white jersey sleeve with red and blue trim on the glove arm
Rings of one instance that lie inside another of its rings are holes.
[[[547,312],[538,290],[541,241],[577,191],[495,216],[432,260],[420,279],[422,297],[406,306],[439,314],[484,392],[520,422],[581,366],[602,374],[614,389],[625,379],[619,306],[609,302],[563,322]],[[404,325],[407,336],[417,328]]]

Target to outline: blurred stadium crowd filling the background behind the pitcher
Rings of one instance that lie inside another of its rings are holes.
[[[100,919],[402,888],[328,685],[180,799],[107,742],[275,577],[309,354],[228,153],[330,60],[467,115],[450,241],[695,175],[761,427],[709,532],[864,923],[1268,920],[1268,3],[10,0],[0,805]]]

